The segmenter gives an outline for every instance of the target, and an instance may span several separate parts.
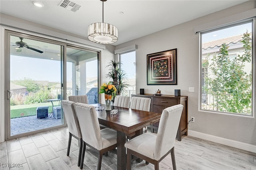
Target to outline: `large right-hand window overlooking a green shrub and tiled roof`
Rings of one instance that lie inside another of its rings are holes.
[[[252,22],[201,32],[201,110],[252,115]]]

